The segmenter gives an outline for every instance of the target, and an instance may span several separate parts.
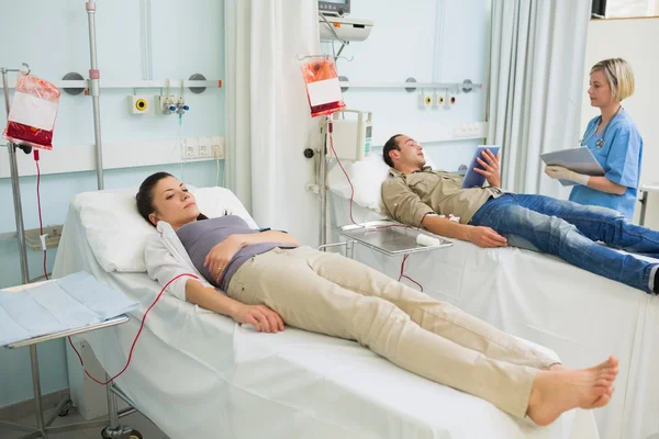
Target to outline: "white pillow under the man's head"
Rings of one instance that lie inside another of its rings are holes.
[[[434,164],[424,150],[426,165],[435,169]],[[362,207],[378,213],[384,212],[382,203],[382,183],[389,176],[389,165],[382,159],[382,153],[372,154],[359,161],[340,162],[355,188],[353,201]],[[350,185],[340,167],[334,165],[327,172],[327,187],[332,192],[344,199],[350,198]]]

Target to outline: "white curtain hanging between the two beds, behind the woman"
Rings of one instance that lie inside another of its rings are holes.
[[[320,52],[317,2],[226,0],[226,182],[261,227],[317,244],[319,204],[305,185],[317,121],[298,56]]]

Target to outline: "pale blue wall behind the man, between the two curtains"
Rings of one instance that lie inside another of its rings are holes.
[[[350,15],[372,20],[368,40],[351,43],[337,61],[338,72],[350,81],[487,82],[490,36],[489,0],[359,0]],[[339,44],[335,44],[338,49]],[[324,45],[326,53],[331,46]],[[373,146],[403,132],[423,140],[435,164],[457,170],[468,164],[483,140],[434,142],[440,126],[482,122],[485,89],[457,94],[457,103],[440,109],[420,109],[420,92],[404,89],[350,89],[344,93],[348,108],[373,112]],[[380,154],[376,150],[373,154]]]

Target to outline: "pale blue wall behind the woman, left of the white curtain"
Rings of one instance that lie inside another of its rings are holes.
[[[98,63],[105,80],[147,79],[142,64],[143,21],[141,5],[148,1],[153,11],[153,79],[183,78],[201,72],[209,79],[224,76],[224,2],[217,0],[99,0],[97,2]],[[59,80],[68,71],[88,76],[89,49],[87,13],[83,0],[0,0],[0,65],[20,67],[26,61],[44,79]],[[13,75],[13,74],[12,74]],[[15,76],[13,77],[15,78]],[[12,79],[13,79],[12,78]],[[160,90],[137,90],[159,94]],[[1,95],[2,102],[4,97]],[[167,140],[179,135],[175,116],[127,113],[126,97],[133,90],[101,91],[102,139],[108,147],[127,142]],[[190,111],[183,116],[181,136],[199,137],[224,134],[224,90],[202,94],[186,91]],[[4,106],[0,111],[4,117]],[[3,125],[2,125],[3,126]],[[0,144],[4,142],[0,140]],[[69,150],[72,145],[93,143],[91,99],[63,93],[55,125],[54,150],[43,154],[44,167],[49,155]],[[135,145],[135,144],[133,144]],[[135,147],[135,146],[133,146]],[[137,146],[138,147],[138,144]],[[2,151],[4,153],[4,151]],[[130,155],[131,150],[124,150]],[[4,159],[0,155],[0,160]],[[30,157],[22,153],[21,162]],[[166,170],[180,177],[179,165],[113,169],[105,173],[105,187],[136,187],[148,175]],[[194,185],[215,184],[215,164],[197,162],[185,167],[186,180]],[[42,178],[44,224],[63,224],[69,200],[78,192],[97,189],[94,172],[51,175]],[[23,215],[26,228],[38,226],[34,177],[21,178]],[[10,180],[0,178],[0,235],[15,230]],[[48,269],[55,251],[48,251]],[[29,250],[31,275],[41,273],[41,254]],[[21,283],[16,240],[0,239],[0,288]],[[40,347],[43,391],[67,387],[64,342]],[[30,361],[26,349],[0,349],[0,406],[32,396]]]

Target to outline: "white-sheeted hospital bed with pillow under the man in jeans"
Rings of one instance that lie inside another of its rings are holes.
[[[380,185],[389,168],[381,156],[343,165],[355,188],[353,219],[387,217]],[[336,167],[330,171],[328,187],[333,226],[353,224],[350,188]],[[333,240],[345,239],[335,235]],[[659,434],[659,297],[549,255],[482,249],[451,240],[455,244],[449,248],[411,255],[405,274],[431,296],[548,347],[568,367],[589,367],[616,354],[621,372],[615,395],[606,407],[595,410],[600,435],[603,439],[646,439]],[[400,274],[400,257],[358,245],[353,252],[355,259],[392,278]]]

